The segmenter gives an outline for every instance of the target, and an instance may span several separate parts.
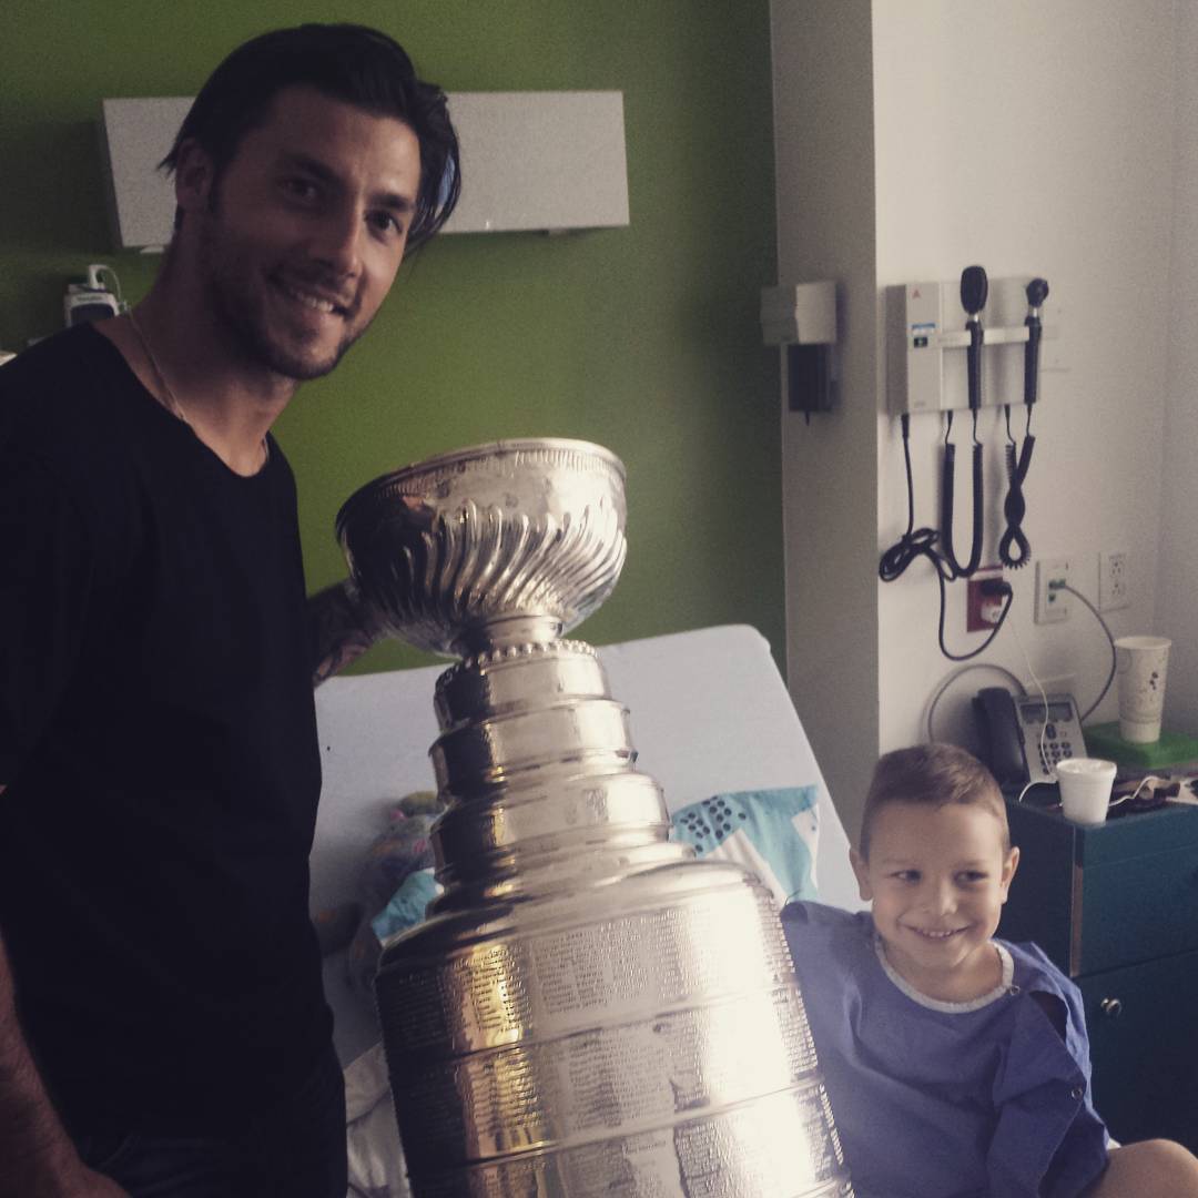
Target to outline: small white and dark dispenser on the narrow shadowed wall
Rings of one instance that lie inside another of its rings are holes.
[[[836,284],[799,283],[764,288],[761,328],[767,345],[783,347],[787,407],[806,413],[831,411],[836,395]]]

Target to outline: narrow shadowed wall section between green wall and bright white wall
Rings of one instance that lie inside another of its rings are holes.
[[[870,0],[775,4],[773,37],[778,277],[836,280],[840,368],[834,412],[782,409],[787,682],[853,835],[878,742]]]

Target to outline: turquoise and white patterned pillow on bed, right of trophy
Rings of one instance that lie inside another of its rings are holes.
[[[671,839],[696,855],[736,861],[761,878],[779,908],[792,898],[816,898],[819,839],[818,788],[716,794],[676,811]]]

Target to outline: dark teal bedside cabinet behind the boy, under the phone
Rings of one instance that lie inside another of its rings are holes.
[[[1006,811],[1021,857],[998,934],[1035,940],[1081,988],[1111,1135],[1198,1152],[1198,807],[1096,827]]]

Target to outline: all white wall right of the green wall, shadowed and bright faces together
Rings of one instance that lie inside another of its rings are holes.
[[[920,562],[889,585],[876,574],[882,549],[907,521],[898,422],[885,415],[881,288],[957,279],[972,262],[994,277],[1049,280],[1064,308],[1070,370],[1046,380],[1034,416],[1024,528],[1034,556],[1070,557],[1073,585],[1091,599],[1099,551],[1129,550],[1132,605],[1109,613],[1108,623],[1117,636],[1157,628],[1166,393],[1194,377],[1192,361],[1180,374],[1167,365],[1170,310],[1184,300],[1174,279],[1170,308],[1170,249],[1179,253],[1170,244],[1175,43],[1182,26],[1192,41],[1193,6],[774,0],[773,19],[780,278],[836,277],[852,321],[840,347],[851,386],[839,417],[815,417],[810,430],[783,417],[789,682],[852,831],[878,751],[926,739],[928,700],[958,668],[937,647],[931,568]],[[866,97],[872,128],[865,127]],[[1184,128],[1192,138],[1193,126]],[[1198,165],[1185,134],[1181,140],[1192,189]],[[867,204],[872,228],[863,218]],[[1188,228],[1180,252],[1193,261],[1192,211]],[[1192,300],[1192,279],[1188,286]],[[865,288],[871,311],[857,294]],[[1172,341],[1184,333],[1179,319]],[[1170,405],[1170,419],[1181,420],[1181,406]],[[1194,406],[1185,409],[1191,424],[1198,422]],[[958,557],[968,549],[968,424],[958,417],[954,430],[963,494]],[[1022,407],[1012,428],[1022,436]],[[1179,429],[1178,441],[1182,431],[1194,444],[1194,428]],[[993,410],[982,413],[979,434],[987,444],[992,512],[984,562],[994,562],[1005,480]],[[918,525],[938,524],[942,437],[939,417],[913,419]],[[1176,470],[1190,472],[1191,491],[1198,490],[1181,446],[1170,453]],[[1179,544],[1190,538],[1190,561],[1198,561],[1198,534],[1184,516],[1178,512],[1174,536]],[[1022,642],[1037,673],[1071,677],[1084,708],[1106,679],[1106,637],[1076,600],[1066,624],[1035,625],[1033,574],[1030,567],[1009,571],[1011,617],[979,660],[1029,680]],[[1182,583],[1162,573],[1166,587],[1182,606]],[[1198,618],[1192,606],[1191,629]],[[982,639],[964,633],[964,586],[950,587],[949,647],[967,652]],[[807,659],[822,673],[818,696],[812,688],[819,679],[803,668]],[[986,671],[957,679],[937,712],[934,734],[969,743],[968,698],[993,680]],[[1114,715],[1112,692],[1095,719]],[[830,739],[835,760],[825,749]]]

